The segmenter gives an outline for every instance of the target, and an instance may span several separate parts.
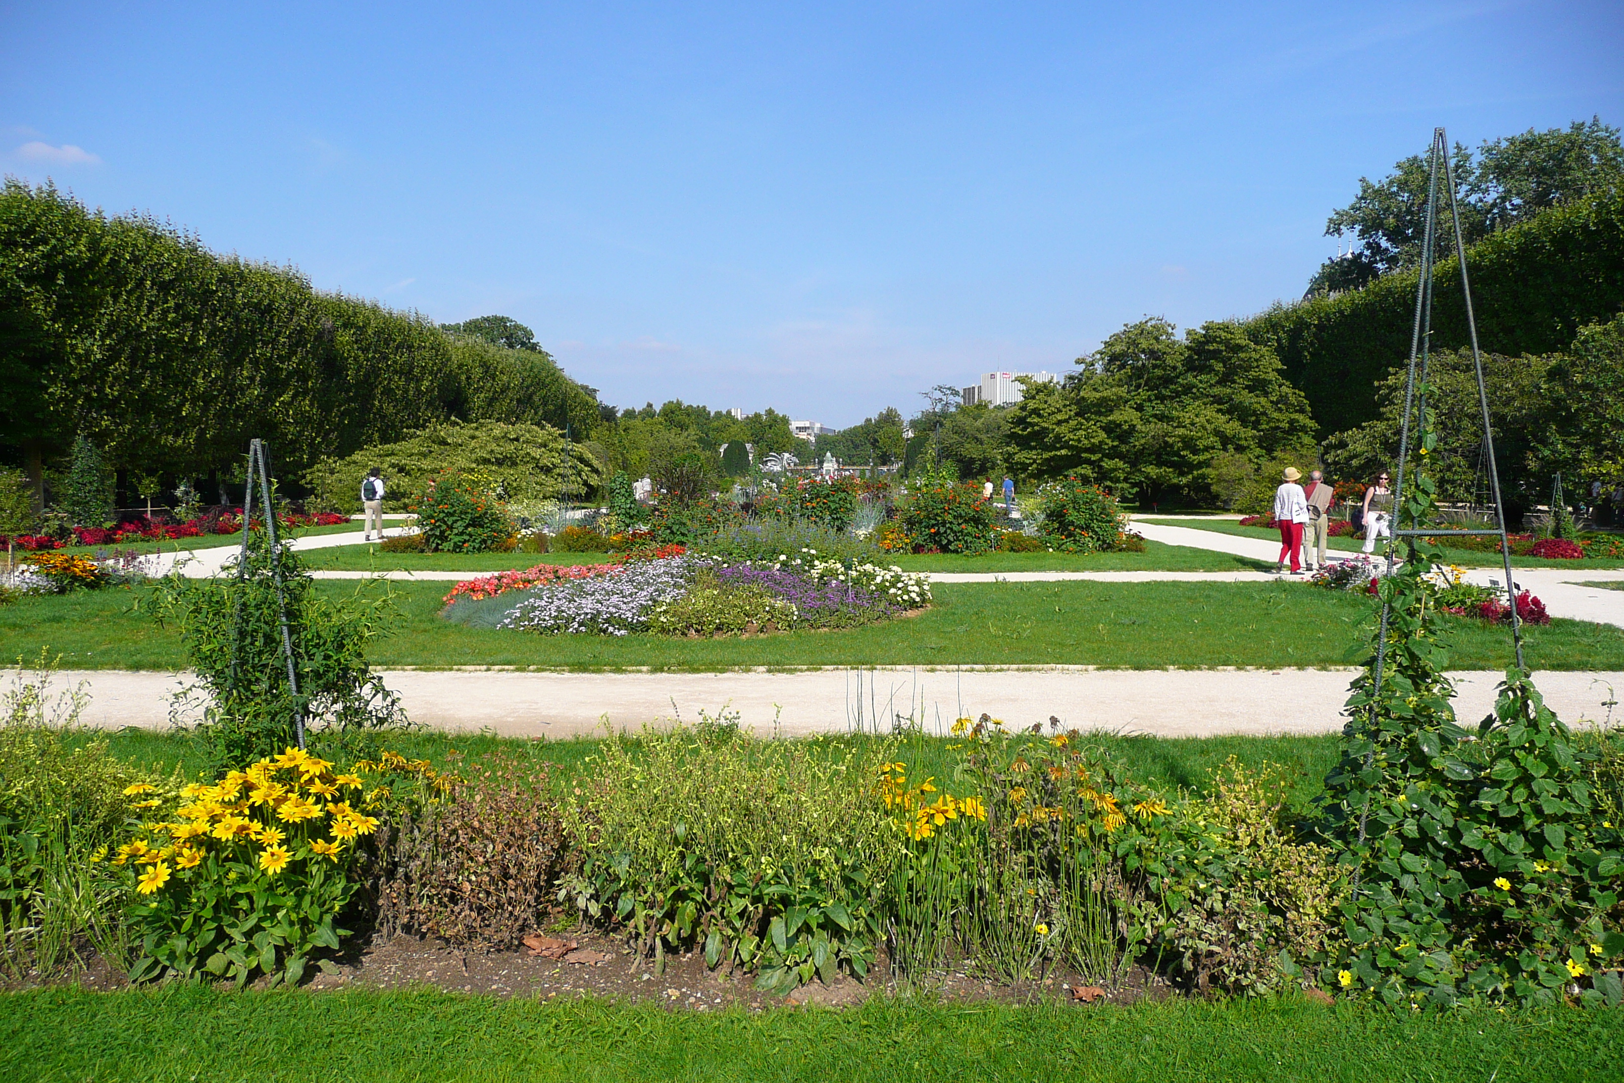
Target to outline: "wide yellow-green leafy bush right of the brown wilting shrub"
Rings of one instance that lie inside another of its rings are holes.
[[[700,948],[789,992],[862,977],[882,938],[896,833],[872,796],[883,745],[757,740],[737,716],[604,740],[565,809],[585,851],[560,898],[664,966]]]

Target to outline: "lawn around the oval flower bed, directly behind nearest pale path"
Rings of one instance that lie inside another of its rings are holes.
[[[749,640],[542,636],[438,617],[448,583],[330,581],[335,596],[390,589],[401,620],[369,651],[377,666],[721,671],[741,666],[1341,666],[1363,659],[1369,599],[1301,583],[937,585],[918,617]],[[0,658],[41,648],[70,669],[180,669],[179,636],[136,611],[132,589],[24,598],[0,607]],[[1510,636],[1453,620],[1450,666],[1502,669]],[[1536,669],[1624,669],[1624,628],[1554,620],[1525,628]]]

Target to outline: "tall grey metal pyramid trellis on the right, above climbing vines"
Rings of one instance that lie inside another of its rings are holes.
[[[1406,528],[1400,516],[1405,507],[1405,464],[1410,458],[1410,419],[1416,419],[1419,435],[1426,424],[1427,362],[1432,344],[1432,263],[1437,248],[1439,187],[1449,193],[1449,218],[1455,234],[1455,260],[1460,263],[1460,291],[1466,302],[1466,333],[1471,343],[1471,367],[1478,378],[1478,406],[1483,411],[1483,463],[1488,469],[1489,500],[1494,507],[1494,529],[1437,529],[1411,521]],[[1416,365],[1421,380],[1416,382]],[[1471,279],[1466,274],[1466,244],[1460,234],[1460,205],[1455,195],[1455,169],[1449,161],[1449,140],[1444,128],[1432,130],[1432,153],[1427,177],[1426,239],[1421,250],[1421,281],[1416,284],[1416,320],[1410,338],[1410,372],[1405,377],[1405,414],[1398,424],[1398,472],[1393,479],[1393,537],[1387,546],[1387,573],[1392,575],[1400,537],[1444,536],[1492,536],[1501,539],[1501,555],[1505,560],[1505,601],[1510,606],[1512,646],[1517,653],[1517,669],[1528,672],[1522,653],[1522,620],[1517,615],[1517,585],[1512,580],[1512,547],[1505,539],[1505,502],[1501,498],[1501,474],[1494,464],[1494,430],[1489,425],[1489,390],[1483,382],[1483,354],[1478,351],[1478,321],[1471,312]],[[1382,667],[1387,661],[1387,627],[1392,602],[1382,602],[1382,635],[1376,645],[1376,672],[1372,692],[1382,687]],[[1377,710],[1372,700],[1371,710]],[[1361,831],[1363,833],[1363,831]]]

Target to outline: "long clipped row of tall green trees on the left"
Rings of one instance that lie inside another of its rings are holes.
[[[80,432],[120,469],[171,476],[227,466],[250,437],[292,476],[451,417],[598,424],[594,396],[542,352],[447,336],[16,180],[0,190],[0,442],[29,461]]]

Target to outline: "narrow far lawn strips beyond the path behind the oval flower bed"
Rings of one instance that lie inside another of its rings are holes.
[[[333,572],[505,572],[538,563],[603,563],[598,552],[382,552],[377,546],[336,546],[300,554],[310,568]],[[976,557],[955,554],[888,554],[883,563],[905,572],[1272,572],[1267,560],[1250,560],[1224,552],[1145,542],[1145,552],[991,552]]]

